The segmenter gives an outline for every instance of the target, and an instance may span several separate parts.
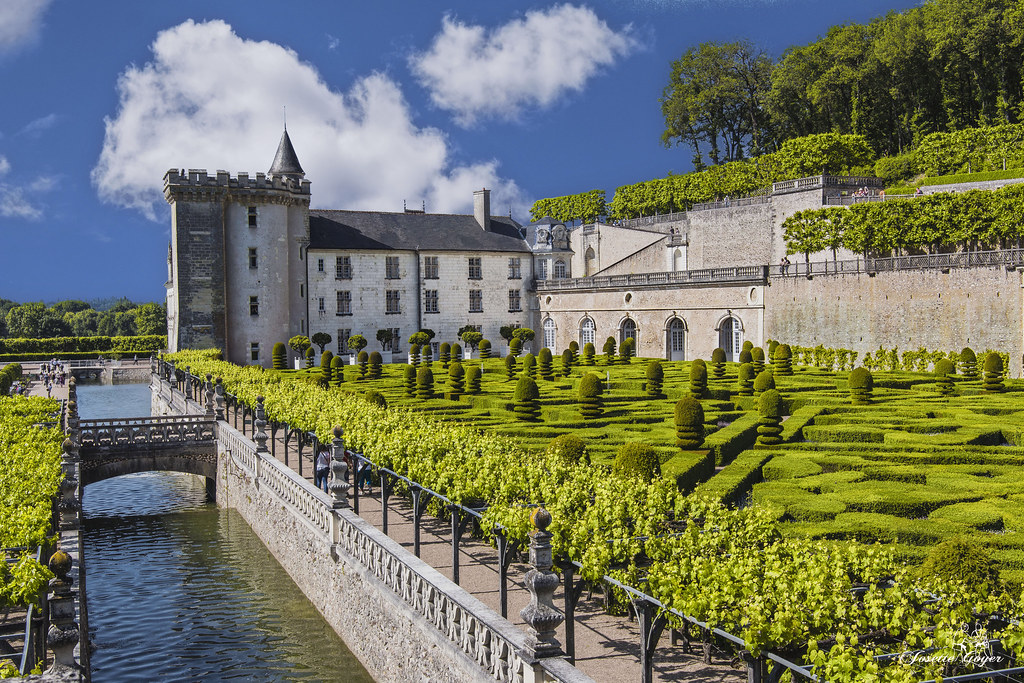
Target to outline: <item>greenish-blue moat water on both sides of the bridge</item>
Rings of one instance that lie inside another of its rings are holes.
[[[79,385],[82,418],[150,415],[145,384]],[[92,678],[372,681],[233,510],[203,479],[152,472],[84,496]]]

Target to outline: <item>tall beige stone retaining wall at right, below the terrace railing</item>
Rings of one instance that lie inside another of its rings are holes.
[[[772,278],[765,336],[788,344],[1010,354],[1022,372],[1022,273],[1005,267]]]

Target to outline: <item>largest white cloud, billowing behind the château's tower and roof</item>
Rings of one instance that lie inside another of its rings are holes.
[[[168,168],[267,170],[283,105],[314,206],[400,211],[403,199],[425,199],[429,211],[451,212],[468,211],[480,186],[517,195],[495,161],[454,167],[445,136],[417,127],[384,75],[337,92],[295,52],[219,20],[163,31],[152,49],[152,61],[121,75],[120,109],[106,120],[92,171],[106,202],[156,218]]]

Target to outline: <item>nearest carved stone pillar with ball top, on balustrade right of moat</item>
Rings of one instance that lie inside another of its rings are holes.
[[[551,513],[537,508],[530,515],[534,530],[529,532],[529,563],[534,568],[526,572],[523,584],[529,591],[529,604],[519,610],[519,616],[529,629],[526,636],[526,653],[535,658],[559,656],[561,646],[555,639],[555,629],[565,618],[553,604],[558,574],[551,570]]]

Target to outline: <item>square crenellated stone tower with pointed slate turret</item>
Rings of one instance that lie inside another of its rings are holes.
[[[269,366],[270,348],[307,334],[309,181],[286,130],[269,173],[171,169],[168,347],[220,348]]]

